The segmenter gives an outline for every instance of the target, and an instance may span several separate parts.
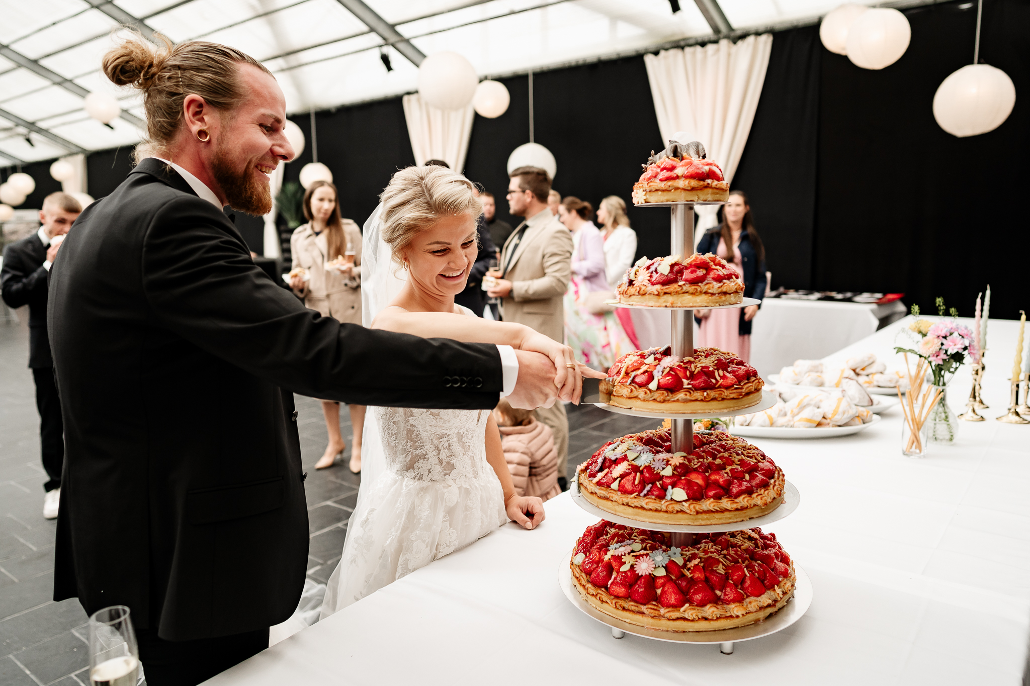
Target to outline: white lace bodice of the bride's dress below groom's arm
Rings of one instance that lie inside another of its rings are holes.
[[[386,469],[419,481],[468,485],[486,462],[485,409],[375,407]]]

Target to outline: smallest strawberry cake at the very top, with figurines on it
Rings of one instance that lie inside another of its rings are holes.
[[[670,141],[657,155],[651,153],[644,174],[633,184],[633,205],[648,203],[724,203],[729,183],[722,170],[706,159],[705,147],[694,141]]]

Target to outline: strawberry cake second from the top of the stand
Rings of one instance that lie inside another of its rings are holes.
[[[616,287],[619,302],[651,308],[712,308],[744,301],[744,281],[726,260],[708,253],[641,257]]]

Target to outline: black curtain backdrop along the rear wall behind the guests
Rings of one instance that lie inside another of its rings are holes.
[[[971,258],[969,245],[981,230],[1001,230],[1004,252],[1017,260],[1030,248],[1017,206],[1030,152],[1023,104],[1030,93],[1030,3],[996,0],[984,8],[981,60],[1004,70],[1023,100],[997,130],[964,139],[940,130],[932,102],[945,77],[971,62],[975,4],[955,0],[905,14],[912,43],[879,71],[827,51],[817,26],[775,35],[733,187],[750,196],[774,287],[904,292],[925,311],[940,295],[971,315],[975,293],[991,283],[992,313],[1015,318],[1026,293],[1020,262]],[[504,198],[505,168],[511,151],[528,142],[527,78],[503,81],[511,105],[496,119],[477,115],[465,171],[516,224]],[[534,86],[535,138],[557,158],[555,188],[594,207],[608,194],[628,203],[641,163],[662,145],[643,58],[537,73]],[[308,145],[286,167],[287,181],[312,158],[309,117],[294,119]],[[318,159],[333,171],[344,216],[360,225],[390,175],[414,164],[401,99],[318,112],[316,120]],[[125,178],[129,153],[88,157],[94,197]],[[23,207],[38,207],[52,185],[59,188],[48,166],[26,167],[37,190]],[[666,216],[630,206],[638,256],[667,251]],[[250,220],[238,214],[237,222],[242,230]],[[247,240],[261,252],[253,223]]]

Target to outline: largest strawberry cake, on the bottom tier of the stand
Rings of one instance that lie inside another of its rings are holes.
[[[695,534],[677,547],[664,532],[600,520],[576,542],[570,566],[591,606],[663,631],[753,624],[786,605],[796,583],[790,556],[760,529]]]

